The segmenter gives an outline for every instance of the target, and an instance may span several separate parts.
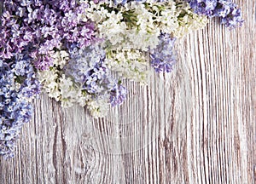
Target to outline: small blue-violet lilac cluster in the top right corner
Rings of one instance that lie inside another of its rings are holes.
[[[230,0],[189,0],[189,5],[196,14],[205,14],[209,17],[221,18],[221,23],[230,29],[241,26],[244,21],[241,9]]]

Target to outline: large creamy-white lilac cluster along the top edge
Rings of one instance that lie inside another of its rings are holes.
[[[183,37],[207,24],[207,17],[193,13],[184,1],[133,1],[111,10],[106,8],[108,3],[90,3],[86,14],[96,21],[99,37],[107,39],[112,49],[148,51],[158,44],[160,32]]]

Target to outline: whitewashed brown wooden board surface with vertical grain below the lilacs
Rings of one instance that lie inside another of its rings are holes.
[[[179,40],[175,71],[126,82],[107,118],[42,95],[0,183],[256,183],[256,4],[236,3],[240,29],[212,20]]]

